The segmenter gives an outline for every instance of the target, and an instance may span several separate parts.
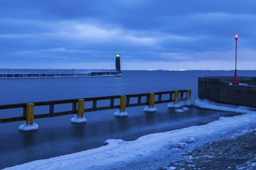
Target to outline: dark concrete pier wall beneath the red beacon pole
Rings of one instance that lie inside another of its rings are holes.
[[[218,103],[256,107],[256,77],[198,77],[198,97]]]

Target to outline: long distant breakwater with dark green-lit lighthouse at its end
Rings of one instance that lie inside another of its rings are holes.
[[[115,64],[115,69],[0,69],[0,79],[122,76],[119,54]]]

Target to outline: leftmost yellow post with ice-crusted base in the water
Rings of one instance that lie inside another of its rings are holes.
[[[34,103],[26,104],[26,123],[20,125],[18,130],[21,131],[30,131],[30,130],[38,130],[38,124],[33,122],[34,117]]]

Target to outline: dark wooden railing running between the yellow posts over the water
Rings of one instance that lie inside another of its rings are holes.
[[[155,103],[168,103],[171,101],[174,101],[174,92],[175,91],[161,91],[161,92],[155,92],[155,96],[157,100],[155,100]],[[181,90],[178,91],[178,99],[182,100],[185,99],[186,96],[188,96],[188,93],[190,93],[187,90]],[[169,98],[166,100],[162,99],[163,95],[169,95]],[[184,94],[186,94],[184,98]],[[126,96],[126,105],[125,107],[133,107],[133,106],[146,106],[149,105],[149,94],[127,94]],[[146,100],[142,101],[142,98],[146,97]],[[43,114],[35,114],[34,118],[50,118],[60,115],[71,115],[77,113],[77,105],[78,105],[78,99],[84,99],[85,102],[92,101],[92,107],[91,108],[85,108],[85,112],[92,112],[92,111],[102,111],[102,110],[108,110],[113,108],[119,108],[118,105],[114,105],[114,100],[119,99],[120,96],[103,96],[103,97],[94,97],[94,98],[76,98],[76,99],[69,99],[69,100],[61,100],[61,101],[41,101],[41,102],[33,102],[34,106],[49,106],[48,113]],[[137,103],[130,103],[130,98],[137,98]],[[97,106],[97,101],[102,100],[109,100],[110,105],[109,106]],[[61,112],[55,112],[54,106],[58,104],[68,104],[72,103],[72,110],[70,111],[61,111]],[[23,115],[19,117],[13,117],[13,118],[0,118],[0,123],[8,123],[8,122],[14,122],[14,121],[20,121],[20,120],[26,120],[26,106],[27,103],[18,103],[18,104],[8,104],[8,105],[0,105],[0,110],[2,109],[11,109],[11,108],[23,108]]]

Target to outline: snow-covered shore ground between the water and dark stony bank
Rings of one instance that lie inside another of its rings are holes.
[[[199,99],[196,99],[195,106],[244,114],[222,117],[206,125],[145,135],[134,141],[107,140],[106,145],[102,147],[28,162],[6,169],[158,169],[159,167],[176,169],[175,166],[167,165],[170,160],[186,157],[178,148],[200,147],[206,142],[242,135],[245,130],[256,128],[254,108],[230,106]]]

